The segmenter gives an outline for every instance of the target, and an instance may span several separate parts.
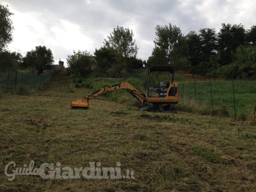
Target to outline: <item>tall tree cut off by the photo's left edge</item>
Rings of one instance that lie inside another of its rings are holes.
[[[12,32],[14,30],[10,19],[12,15],[13,13],[9,11],[8,5],[0,5],[0,52],[6,48],[7,44],[12,42]]]

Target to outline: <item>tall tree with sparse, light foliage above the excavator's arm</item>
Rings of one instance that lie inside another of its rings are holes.
[[[130,67],[127,61],[128,58],[136,57],[139,49],[135,44],[135,40],[133,40],[134,34],[132,30],[117,26],[117,28],[114,28],[113,33],[110,33],[110,36],[107,37],[108,40],[104,40],[104,45],[114,51],[117,65],[127,70]]]

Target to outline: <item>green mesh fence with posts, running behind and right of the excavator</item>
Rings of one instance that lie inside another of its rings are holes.
[[[142,81],[146,75],[132,74]],[[232,117],[256,115],[256,80],[179,82],[180,101],[195,101],[209,108],[225,105]]]

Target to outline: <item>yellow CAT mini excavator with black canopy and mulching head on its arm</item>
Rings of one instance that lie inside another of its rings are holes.
[[[150,87],[150,74],[152,72],[169,72],[171,73],[171,82],[160,82],[159,87]],[[71,102],[71,109],[88,109],[89,100],[96,96],[102,95],[109,91],[115,91],[119,89],[127,90],[134,98],[138,99],[141,106],[140,111],[160,111],[160,112],[175,112],[175,105],[178,104],[178,84],[174,83],[175,69],[172,66],[152,66],[148,70],[148,97],[135,89],[128,82],[121,82],[111,86],[103,86],[101,89],[89,94],[87,97],[81,100],[74,100]]]

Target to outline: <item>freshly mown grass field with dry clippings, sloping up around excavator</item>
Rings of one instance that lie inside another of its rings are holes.
[[[106,96],[91,100],[89,110],[70,110],[72,100],[91,92],[71,86],[62,71],[33,94],[0,95],[0,191],[256,191],[255,119],[139,112]],[[61,179],[8,180],[9,162],[16,164],[11,174],[32,160],[54,170],[100,162],[101,171],[119,167],[134,178],[87,179],[80,172],[80,179],[64,179],[62,170]]]

